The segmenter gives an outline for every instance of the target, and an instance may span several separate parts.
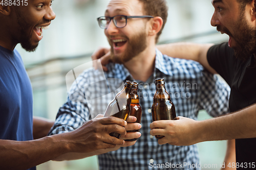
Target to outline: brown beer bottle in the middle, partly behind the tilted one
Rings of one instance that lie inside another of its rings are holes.
[[[132,103],[131,103],[131,114],[130,116],[135,116],[137,118],[136,123],[140,124],[141,121],[141,106],[140,106],[140,101],[139,101],[139,96],[138,96],[138,83],[133,82],[134,83],[134,88],[132,89],[132,94],[131,94],[131,98],[132,98]],[[139,132],[139,130],[131,130],[131,131],[127,131],[127,132]],[[134,139],[126,139],[125,141],[135,141],[137,140],[137,138]]]

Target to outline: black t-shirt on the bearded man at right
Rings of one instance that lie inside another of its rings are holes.
[[[222,43],[210,47],[207,60],[231,87],[229,99],[231,112],[256,103],[255,54],[252,54],[247,61],[242,61],[234,57],[234,51],[228,43]],[[253,168],[252,162],[256,164],[256,138],[236,139],[236,156],[237,162],[240,164],[247,162],[247,168]]]

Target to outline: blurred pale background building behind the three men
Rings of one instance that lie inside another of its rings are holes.
[[[157,1],[157,0],[156,0]],[[227,41],[211,27],[214,12],[211,0],[166,0],[168,19],[159,43],[178,41],[219,43]],[[55,119],[58,108],[67,99],[66,74],[71,69],[91,61],[91,54],[99,46],[109,46],[96,18],[104,15],[109,0],[55,0],[56,14],[49,30],[34,53],[27,53],[19,45],[31,79],[34,94],[34,115]],[[200,112],[200,119],[209,118]],[[199,143],[201,164],[218,164],[225,156],[226,142]],[[37,167],[42,169],[98,169],[96,157],[76,161],[49,161]]]

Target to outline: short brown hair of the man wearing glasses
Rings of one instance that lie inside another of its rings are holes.
[[[163,19],[163,26],[156,36],[156,42],[162,33],[168,16],[168,7],[165,0],[139,0],[143,3],[145,15],[160,16]]]

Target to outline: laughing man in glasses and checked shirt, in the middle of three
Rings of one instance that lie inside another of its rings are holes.
[[[115,96],[108,94],[120,87],[118,80],[136,81],[142,107],[141,137],[130,147],[98,155],[100,169],[168,169],[170,164],[175,164],[173,169],[200,169],[196,166],[200,163],[197,145],[159,145],[150,135],[155,79],[164,78],[177,116],[193,119],[201,109],[211,116],[228,113],[230,88],[199,63],[164,56],[155,48],[166,19],[165,0],[110,1],[98,22],[111,45],[112,63],[106,65],[108,71],[103,75],[94,69],[83,71],[49,134],[73,131],[95,114],[104,113]]]

